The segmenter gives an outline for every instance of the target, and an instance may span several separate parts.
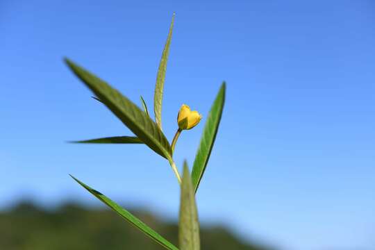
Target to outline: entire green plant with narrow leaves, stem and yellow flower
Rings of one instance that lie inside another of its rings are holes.
[[[192,173],[190,174],[188,165],[185,161],[183,168],[183,179],[181,181],[181,176],[178,173],[176,164],[174,163],[172,154],[174,150],[174,145],[176,140],[178,140],[178,135],[180,135],[183,129],[190,129],[195,126],[201,119],[201,115],[197,111],[190,112],[190,108],[185,110],[186,115],[195,121],[192,126],[188,126],[187,122],[190,118],[185,117],[182,121],[178,122],[179,129],[174,136],[172,146],[169,144],[167,138],[162,131],[162,120],[161,120],[161,110],[163,102],[163,90],[165,82],[165,72],[167,70],[167,60],[169,56],[169,46],[172,40],[172,30],[174,26],[174,16],[172,17],[172,23],[169,28],[169,33],[167,37],[167,42],[163,50],[162,58],[160,60],[160,65],[158,67],[158,74],[156,77],[156,87],[154,92],[154,112],[155,120],[153,122],[149,115],[149,110],[147,109],[146,102],[140,97],[144,111],[142,111],[138,106],[136,106],[127,97],[123,96],[119,91],[112,88],[108,83],[101,80],[94,74],[88,72],[83,67],[80,67],[72,62],[72,60],[65,59],[67,65],[72,69],[72,72],[78,76],[78,78],[85,83],[85,85],[94,93],[94,99],[103,103],[109,110],[112,111],[114,115],[117,116],[136,136],[118,136],[110,138],[97,138],[92,140],[81,140],[76,141],[76,143],[110,143],[110,144],[146,144],[150,149],[158,153],[163,158],[167,158],[169,164],[171,165],[174,174],[179,183],[181,183],[181,206],[180,206],[180,222],[179,222],[179,243],[181,250],[199,250],[201,247],[201,242],[199,238],[199,222],[197,206],[195,203],[195,192],[199,187],[201,178],[203,177],[204,171],[206,169],[208,159],[210,158],[210,153],[213,149],[213,144],[217,135],[217,130],[219,128],[219,122],[222,117],[222,111],[224,108],[225,99],[225,82],[217,94],[217,97],[213,103],[213,106],[208,115],[206,121],[206,126],[203,129],[203,135],[201,142],[199,144],[199,149],[194,160],[194,165]],[[186,107],[185,107],[186,108]],[[178,115],[178,120],[180,117]],[[73,176],[72,176],[73,177]],[[74,178],[74,177],[73,177]],[[153,231],[149,226],[140,221],[137,217],[129,213],[127,210],[117,205],[114,201],[111,201],[106,196],[93,190],[88,185],[85,185],[81,181],[74,178],[79,184],[88,190],[91,194],[105,203],[107,206],[112,208],[117,214],[119,214],[127,222],[133,224],[140,231],[148,235],[150,238],[158,242],[160,245],[166,249],[178,250],[174,245],[162,236],[160,236],[156,231]]]

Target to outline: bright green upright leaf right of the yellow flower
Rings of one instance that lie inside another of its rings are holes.
[[[219,128],[220,119],[222,119],[225,88],[226,83],[223,82],[213,106],[211,107],[210,113],[208,114],[206,124],[203,128],[201,143],[199,144],[197,154],[195,155],[192,169],[192,183],[194,185],[195,192],[198,190],[199,183],[201,182],[201,178],[206,169],[208,159],[210,158],[213,144],[215,142],[217,129]]]

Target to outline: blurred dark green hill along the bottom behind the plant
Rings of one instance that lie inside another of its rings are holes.
[[[136,212],[151,228],[178,245],[177,225],[163,222],[151,213]],[[46,210],[33,203],[0,212],[0,249],[2,250],[161,250],[111,210],[87,208],[67,203]],[[203,250],[266,250],[242,242],[222,227],[203,227]]]

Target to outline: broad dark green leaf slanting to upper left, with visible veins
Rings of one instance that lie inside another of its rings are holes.
[[[165,158],[172,159],[171,147],[160,128],[138,106],[118,90],[94,74],[65,59],[74,74],[90,88],[95,96],[109,108],[144,144]]]

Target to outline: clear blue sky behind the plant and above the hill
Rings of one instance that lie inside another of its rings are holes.
[[[202,221],[284,249],[375,249],[374,1],[0,1],[0,206],[99,205],[71,173],[176,219],[178,184],[156,153],[66,143],[131,133],[62,61],[151,106],[173,12],[167,137],[182,103],[206,117],[228,83]],[[181,135],[178,165],[192,165],[203,123]]]

